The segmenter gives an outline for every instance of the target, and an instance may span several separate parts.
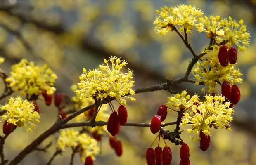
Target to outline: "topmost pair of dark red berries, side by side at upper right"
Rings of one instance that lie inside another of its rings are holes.
[[[227,66],[228,63],[235,64],[237,62],[237,50],[234,47],[221,45],[219,48],[218,59],[221,66]]]

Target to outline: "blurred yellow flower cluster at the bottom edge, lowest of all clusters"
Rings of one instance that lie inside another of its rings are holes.
[[[65,151],[65,148],[68,147],[79,146],[81,149],[80,158],[83,162],[87,156],[91,156],[93,159],[95,159],[95,155],[97,155],[100,151],[95,139],[92,139],[90,136],[87,136],[84,133],[79,134],[79,132],[74,129],[60,131],[60,136],[57,140],[57,146],[62,151]]]

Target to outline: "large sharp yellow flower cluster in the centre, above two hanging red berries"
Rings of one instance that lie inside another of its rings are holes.
[[[109,61],[111,66],[109,66]],[[135,91],[132,89],[135,81],[132,81],[133,71],[129,70],[127,73],[121,72],[123,66],[128,63],[121,61],[120,58],[111,56],[107,61],[99,65],[99,69],[86,71],[83,68],[83,74],[79,77],[78,90],[76,96],[80,101],[85,98],[96,96],[97,98],[104,99],[107,97],[114,97],[121,101],[122,105],[126,105],[126,100],[122,97],[129,98],[134,101],[133,97],[127,97],[126,94],[134,95]]]

